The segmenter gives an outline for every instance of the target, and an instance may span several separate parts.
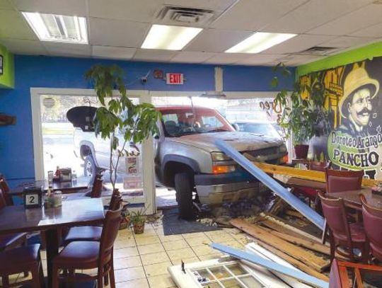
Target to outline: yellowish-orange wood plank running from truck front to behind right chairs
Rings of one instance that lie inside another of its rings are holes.
[[[318,182],[326,182],[325,179],[325,172],[321,171],[313,171],[313,170],[303,170],[299,168],[293,168],[289,166],[279,166],[279,165],[273,165],[268,163],[260,163],[253,161],[253,164],[260,168],[265,173],[276,173],[276,174],[282,174],[287,175],[291,177],[306,179],[306,180],[312,180],[312,181],[318,181]],[[362,186],[366,188],[371,188],[376,185],[379,185],[382,183],[380,180],[375,179],[362,179]]]

